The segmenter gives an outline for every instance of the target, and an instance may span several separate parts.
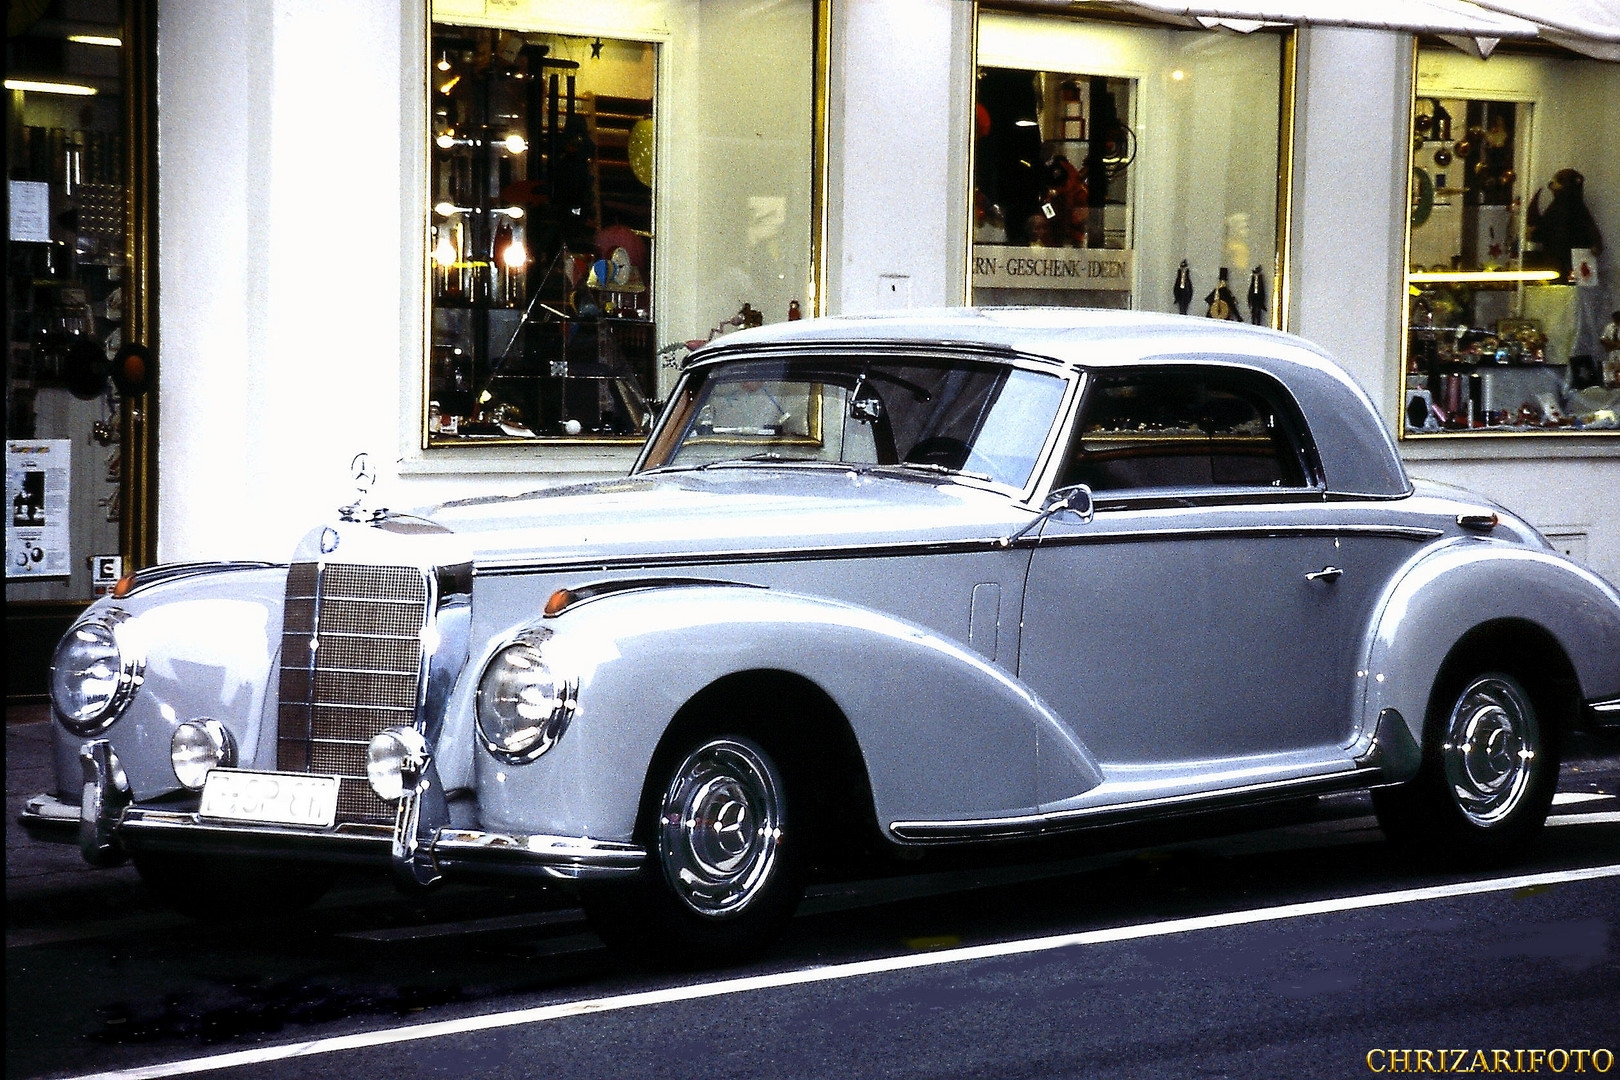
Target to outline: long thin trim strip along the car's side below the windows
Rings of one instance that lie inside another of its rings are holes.
[[[1098,510],[1106,513],[1106,510]],[[1144,539],[1244,539],[1256,536],[1383,536],[1390,539],[1432,541],[1445,536],[1442,529],[1409,525],[1231,525],[1184,529],[1129,529],[1116,533],[1081,533],[1048,536],[1037,541],[1025,538],[1014,549],[1061,544],[1121,544]],[[755,547],[745,551],[672,552],[667,555],[622,555],[608,559],[570,559],[565,562],[481,562],[480,576],[509,576],[517,573],[583,573],[591,570],[654,570],[661,567],[710,567],[752,562],[818,562],[829,559],[897,559],[906,555],[966,555],[983,551],[1006,551],[1001,538],[967,541],[915,541],[899,544],[873,544],[868,547]]]

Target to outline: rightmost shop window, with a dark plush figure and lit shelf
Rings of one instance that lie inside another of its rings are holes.
[[[1406,436],[1620,431],[1602,251],[1620,220],[1584,176],[1614,121],[1581,105],[1617,89],[1612,63],[1419,50]]]

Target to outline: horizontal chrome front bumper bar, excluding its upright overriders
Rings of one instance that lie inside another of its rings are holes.
[[[39,837],[78,839],[81,808],[42,793],[28,800],[23,824]],[[347,824],[309,831],[275,824],[204,821],[199,814],[151,806],[128,806],[118,816],[115,837],[125,850],[279,855],[322,863],[392,863],[394,827]],[[539,878],[546,881],[595,881],[640,870],[646,850],[635,844],[572,836],[515,836],[480,829],[436,829],[423,847],[446,878]]]

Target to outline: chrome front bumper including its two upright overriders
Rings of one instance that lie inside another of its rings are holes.
[[[387,866],[408,889],[441,879],[539,878],[598,881],[635,873],[646,852],[635,844],[565,836],[518,836],[458,829],[433,758],[411,761],[394,824],[284,826],[204,818],[194,810],[133,803],[128,782],[107,740],[79,751],[84,787],[78,805],[36,795],[23,810],[29,832],[71,842],[92,866],[115,866],[138,852],[262,855],[348,866]]]

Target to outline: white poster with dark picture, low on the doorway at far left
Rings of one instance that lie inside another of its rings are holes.
[[[71,481],[71,439],[6,440],[5,483],[11,517],[5,526],[5,576],[68,576],[73,567],[68,551]]]

